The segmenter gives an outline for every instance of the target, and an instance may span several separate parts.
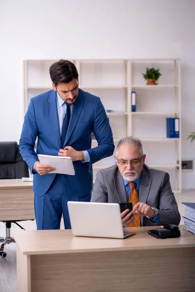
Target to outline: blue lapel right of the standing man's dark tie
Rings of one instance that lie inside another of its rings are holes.
[[[65,138],[63,147],[65,145],[67,145],[67,142],[68,142],[72,132],[74,131],[75,126],[77,125],[77,121],[78,121],[80,112],[82,110],[83,103],[84,103],[84,100],[83,100],[83,97],[82,97],[82,93],[81,93],[80,90],[78,90],[78,99],[77,99],[76,103],[72,107],[70,123],[69,123],[69,126],[68,126],[68,131],[67,131],[67,134],[66,134],[66,138]]]

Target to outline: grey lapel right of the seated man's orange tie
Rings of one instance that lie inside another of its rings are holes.
[[[152,180],[149,178],[145,166],[143,166],[141,172],[141,178],[139,183],[139,202],[146,203],[150,191]],[[141,226],[143,226],[143,217],[141,216]]]

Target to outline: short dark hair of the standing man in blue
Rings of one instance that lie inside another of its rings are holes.
[[[69,83],[73,79],[78,79],[78,71],[71,61],[59,60],[49,68],[50,78],[55,86],[60,83]]]

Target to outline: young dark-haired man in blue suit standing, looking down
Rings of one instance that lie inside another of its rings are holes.
[[[100,98],[78,89],[78,71],[68,60],[51,65],[53,90],[31,98],[20,137],[20,153],[34,174],[37,229],[70,229],[67,201],[90,201],[92,164],[111,156],[114,142]],[[92,131],[98,146],[91,148]],[[38,137],[37,151],[34,151]],[[71,156],[75,176],[50,173],[37,154]]]

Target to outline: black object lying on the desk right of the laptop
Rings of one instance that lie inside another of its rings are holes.
[[[165,225],[163,228],[156,228],[148,230],[148,234],[156,238],[173,238],[180,237],[178,226],[174,224]]]

